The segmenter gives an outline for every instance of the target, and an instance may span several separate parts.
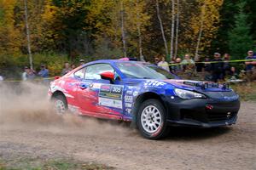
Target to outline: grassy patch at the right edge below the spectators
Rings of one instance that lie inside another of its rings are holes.
[[[242,101],[256,101],[256,82],[231,85]]]

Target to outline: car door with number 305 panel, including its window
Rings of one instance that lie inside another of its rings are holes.
[[[114,72],[109,64],[88,65],[79,84],[77,99],[84,115],[121,119],[123,112],[123,86],[104,80],[101,73]]]

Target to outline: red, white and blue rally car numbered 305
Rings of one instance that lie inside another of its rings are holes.
[[[103,59],[51,82],[59,114],[116,119],[160,139],[170,125],[219,127],[236,123],[239,96],[227,84],[182,80],[156,65]]]

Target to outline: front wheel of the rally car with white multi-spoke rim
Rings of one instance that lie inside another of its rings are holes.
[[[168,133],[166,110],[157,99],[148,99],[140,106],[137,127],[143,137],[160,139]]]

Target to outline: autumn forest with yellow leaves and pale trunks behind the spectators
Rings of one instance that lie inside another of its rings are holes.
[[[255,0],[0,0],[0,73],[30,66],[30,56],[51,75],[79,59],[244,59],[255,28]]]

